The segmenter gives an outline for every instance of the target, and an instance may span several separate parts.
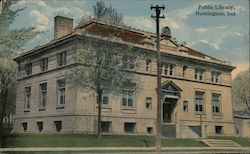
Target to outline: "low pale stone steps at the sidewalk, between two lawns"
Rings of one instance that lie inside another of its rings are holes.
[[[232,140],[222,140],[222,139],[201,139],[203,143],[209,147],[240,147],[239,144]]]

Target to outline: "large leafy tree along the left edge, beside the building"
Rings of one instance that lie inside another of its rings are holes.
[[[6,111],[10,110],[11,103],[7,98],[10,89],[16,81],[16,65],[12,58],[22,47],[40,32],[35,31],[34,27],[11,29],[10,26],[15,21],[18,13],[24,8],[12,10],[11,6],[17,3],[17,0],[5,0],[2,2],[2,11],[0,13],[0,147],[4,143],[3,118]],[[6,136],[6,135],[5,135]]]

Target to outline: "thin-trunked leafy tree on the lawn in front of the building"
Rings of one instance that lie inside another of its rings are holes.
[[[69,78],[78,88],[93,91],[97,95],[99,139],[103,94],[119,95],[126,91],[132,96],[139,90],[139,78],[129,71],[135,68],[138,61],[129,55],[131,51],[131,46],[121,45],[113,38],[84,35],[77,42],[76,61],[79,66]]]

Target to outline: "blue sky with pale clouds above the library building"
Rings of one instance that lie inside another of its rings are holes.
[[[233,78],[249,68],[249,0],[103,0],[123,14],[124,23],[133,28],[155,32],[151,5],[165,6],[161,12],[160,28],[168,26],[172,37],[186,42],[188,47],[223,61],[230,61],[237,68]],[[34,26],[45,33],[31,40],[24,50],[42,45],[53,39],[54,17],[74,19],[76,26],[83,16],[93,16],[96,0],[20,0],[13,9],[19,13],[12,28]],[[223,13],[224,16],[197,15]],[[228,15],[230,12],[233,15]]]

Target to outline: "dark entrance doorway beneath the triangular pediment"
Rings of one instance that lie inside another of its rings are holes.
[[[174,108],[176,106],[176,99],[166,99],[163,103],[162,111],[162,122],[163,123],[174,123]]]

